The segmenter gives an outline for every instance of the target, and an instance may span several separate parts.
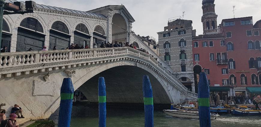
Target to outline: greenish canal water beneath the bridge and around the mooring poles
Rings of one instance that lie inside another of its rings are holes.
[[[142,105],[107,106],[107,127],[144,127],[144,110]],[[199,127],[198,119],[175,118],[160,109],[166,106],[155,105],[155,127]],[[58,123],[58,112],[50,119]],[[98,104],[81,104],[73,106],[71,127],[98,127]],[[261,116],[220,115],[211,121],[211,127],[261,127]]]

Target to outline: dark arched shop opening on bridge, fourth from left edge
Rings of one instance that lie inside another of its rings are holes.
[[[90,47],[90,42],[91,36],[89,36],[88,28],[83,23],[78,24],[74,31],[73,44],[78,44],[79,47],[86,47],[87,45]]]

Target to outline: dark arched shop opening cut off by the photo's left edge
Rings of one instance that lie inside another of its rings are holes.
[[[12,36],[11,34],[9,34],[9,32],[10,32],[9,26],[8,26],[7,22],[3,19],[1,49],[6,46],[7,52],[10,52],[11,36]]]

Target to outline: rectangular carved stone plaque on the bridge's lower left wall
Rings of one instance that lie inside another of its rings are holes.
[[[55,82],[34,81],[33,96],[51,95],[54,96]]]

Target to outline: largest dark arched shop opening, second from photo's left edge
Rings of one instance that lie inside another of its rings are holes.
[[[32,17],[22,20],[17,30],[16,51],[40,51],[44,46],[45,35],[41,23]],[[25,29],[28,28],[28,29]],[[31,30],[29,30],[31,29]]]

